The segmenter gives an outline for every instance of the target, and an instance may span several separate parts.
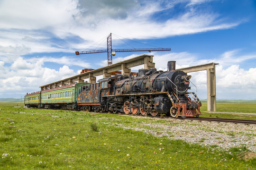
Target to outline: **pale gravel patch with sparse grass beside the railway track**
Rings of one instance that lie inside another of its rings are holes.
[[[143,116],[136,116],[136,118],[155,119]],[[170,118],[160,120],[164,120],[164,123],[153,120],[150,123],[142,121],[142,123],[133,124],[131,127],[118,125],[125,129],[143,131],[155,136],[167,136],[170,139],[181,139],[189,143],[205,146],[217,145],[223,149],[246,146],[247,149],[256,152],[255,126]]]

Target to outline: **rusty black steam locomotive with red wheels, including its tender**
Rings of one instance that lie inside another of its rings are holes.
[[[134,115],[199,116],[201,102],[195,93],[188,92],[191,76],[175,70],[175,61],[168,61],[167,66],[168,71],[139,69],[136,77],[117,75],[83,85],[77,108]]]

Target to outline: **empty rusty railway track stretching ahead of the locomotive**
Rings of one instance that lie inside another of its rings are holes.
[[[243,123],[247,125],[254,125],[256,124],[256,120],[247,120],[247,119],[224,119],[224,118],[178,118],[178,119],[189,119],[189,120],[199,120],[199,121],[215,121],[215,122],[230,122],[230,123]]]

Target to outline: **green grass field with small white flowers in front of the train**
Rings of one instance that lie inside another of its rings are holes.
[[[218,150],[215,146],[203,147],[119,127],[161,119],[14,106],[17,103],[0,104],[2,170],[253,170],[256,167],[256,159],[240,159],[247,151],[245,147]]]

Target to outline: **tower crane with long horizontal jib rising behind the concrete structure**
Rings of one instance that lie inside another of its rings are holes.
[[[108,66],[112,65],[112,56],[116,55],[116,52],[130,52],[130,51],[171,51],[171,48],[148,48],[148,49],[112,49],[112,38],[111,33],[107,37],[107,50],[93,50],[93,51],[75,51],[76,55],[79,54],[91,54],[91,53],[100,53],[107,52],[108,53]]]

